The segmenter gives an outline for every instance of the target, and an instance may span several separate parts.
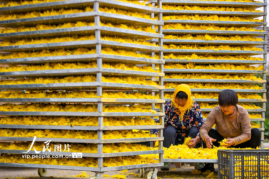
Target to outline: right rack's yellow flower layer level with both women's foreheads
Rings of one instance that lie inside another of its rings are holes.
[[[1,94],[1,93],[0,93]],[[192,99],[218,99],[219,93],[192,93]],[[174,93],[164,93],[164,98],[173,98]],[[158,96],[155,95],[155,96]],[[261,99],[259,94],[237,93],[238,99]]]

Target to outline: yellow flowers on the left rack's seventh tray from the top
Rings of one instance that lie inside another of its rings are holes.
[[[1,80],[0,85],[20,85],[20,84],[48,84],[48,83],[75,83],[75,82],[95,82],[96,76],[67,76],[65,78],[20,78],[17,80]],[[155,82],[143,78],[124,77],[104,77],[102,82],[109,83],[129,83],[137,85],[156,85]]]

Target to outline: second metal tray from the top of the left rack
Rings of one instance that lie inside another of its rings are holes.
[[[126,25],[163,25],[163,21],[131,17],[121,14],[106,12],[82,12],[56,16],[33,17],[25,19],[12,19],[0,21],[0,27],[33,26],[35,24],[63,24],[76,23],[77,21],[94,22],[94,16],[100,16],[100,21],[112,24]]]

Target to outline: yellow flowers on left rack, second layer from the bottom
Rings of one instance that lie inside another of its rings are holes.
[[[66,143],[55,143],[51,142],[50,146],[62,145]],[[69,152],[83,152],[83,153],[97,153],[97,144],[86,144],[86,143],[68,143],[71,145]],[[38,151],[43,150],[44,143],[35,142],[34,148]],[[6,150],[28,150],[31,146],[30,142],[13,142],[13,143],[0,143],[1,149]],[[103,144],[103,153],[115,153],[115,152],[134,152],[134,151],[150,151],[156,148],[147,147],[145,145],[139,144],[129,144],[129,143],[112,143]],[[31,148],[31,150],[34,150]]]

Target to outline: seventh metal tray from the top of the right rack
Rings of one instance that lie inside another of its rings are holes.
[[[217,60],[217,59],[165,59],[166,63],[195,63],[195,64],[223,64],[223,63],[231,63],[231,64],[263,64],[266,63],[266,60]],[[0,61],[1,63],[1,61]],[[164,69],[165,70],[165,69]]]

